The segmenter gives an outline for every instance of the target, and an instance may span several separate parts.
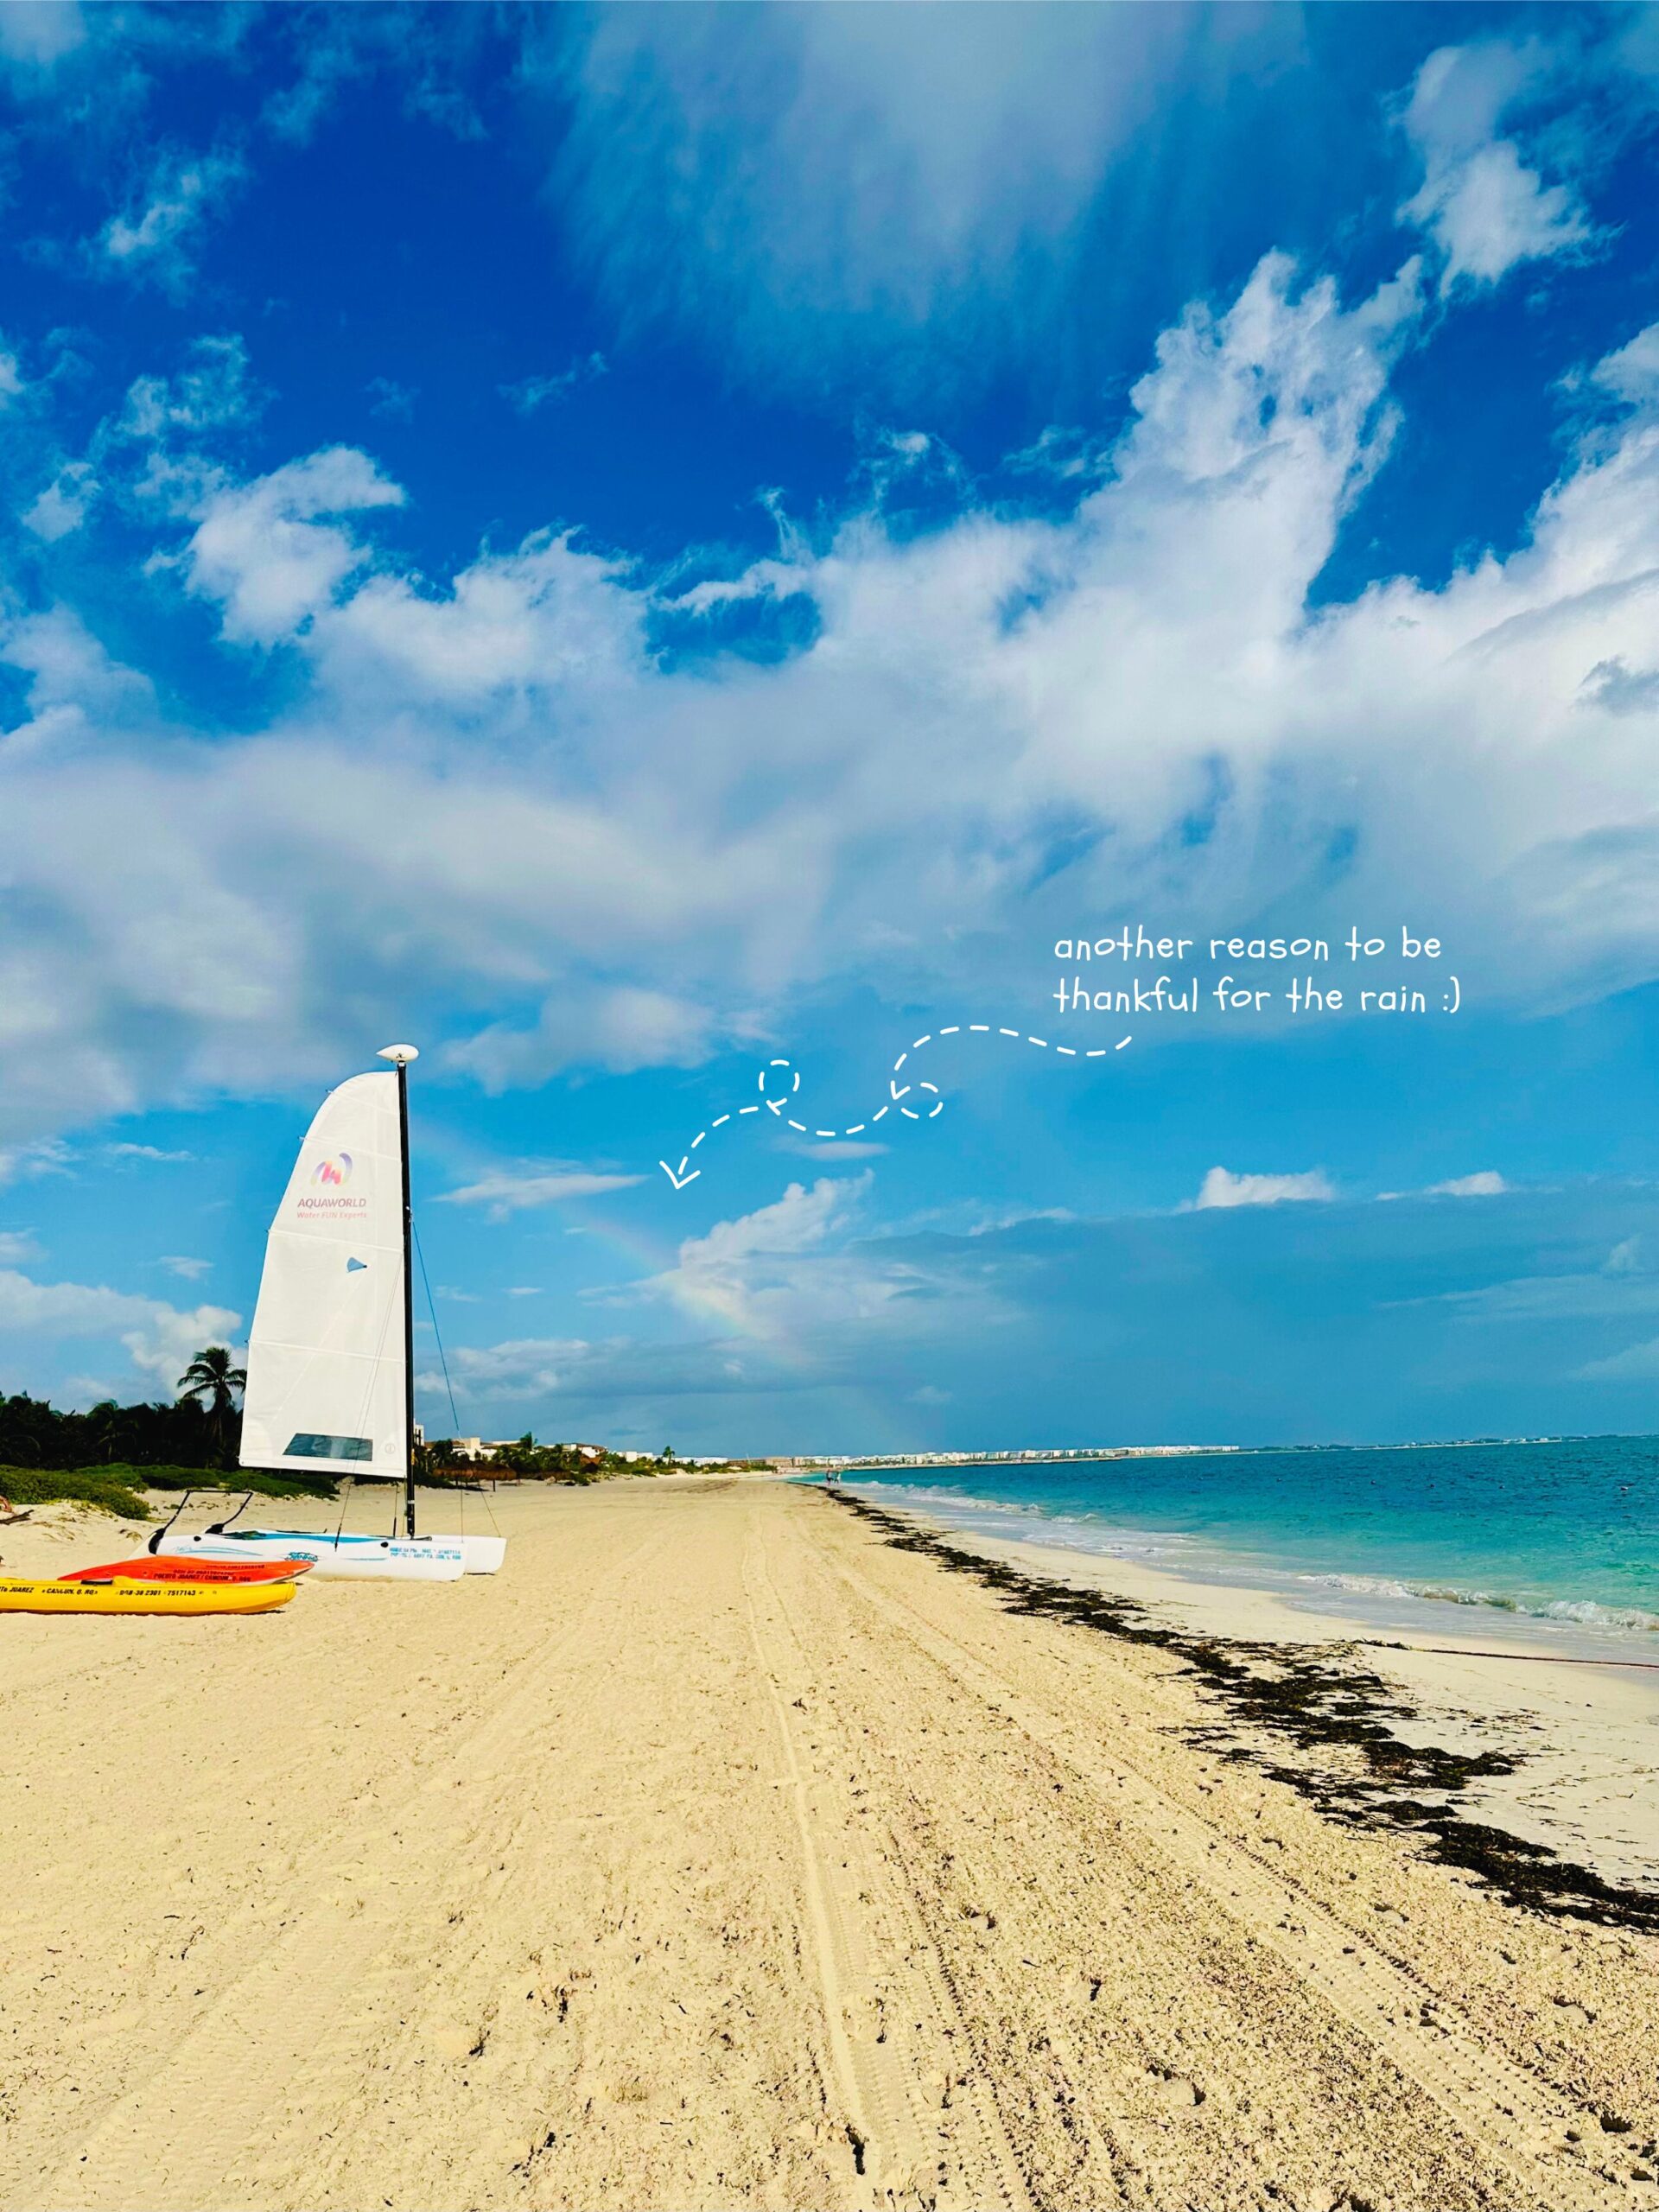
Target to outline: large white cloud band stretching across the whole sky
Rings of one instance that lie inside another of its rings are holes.
[[[9,633],[75,741],[9,768],[0,1144],[327,1079],[376,1006],[445,1009],[495,1088],[867,984],[984,1018],[1079,914],[1409,911],[1484,1006],[1652,980],[1659,699],[1586,679],[1652,661],[1659,411],[1568,449],[1511,555],[1310,613],[1418,312],[1265,261],[1164,334],[1071,513],[785,535],[728,602],[810,604],[765,666],[655,653],[653,580],[568,538],[369,557],[352,518],[403,493],[363,453],[219,473],[157,577],[292,641],[263,728],[168,719],[66,608]]]

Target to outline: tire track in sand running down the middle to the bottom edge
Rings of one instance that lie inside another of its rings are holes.
[[[810,1752],[803,1745],[807,1723],[794,1714],[805,1712],[812,1699],[814,1723],[827,1728],[832,1721],[814,1694],[812,1670],[768,1571],[759,1526],[750,1528],[745,1544],[743,1597],[794,1801],[803,1936],[812,1942],[823,1997],[830,2070],[856,2170],[874,2183],[869,2201],[896,2208],[960,2203],[951,2166],[964,2163],[973,2172],[960,2179],[975,2190],[975,2208],[989,2212],[995,2203],[1002,2212],[1031,2212],[1031,2192],[1000,2119],[984,2108],[982,2095],[971,2095],[964,2077],[960,2051],[969,2039],[927,1933],[849,1807],[836,1807],[836,1820],[814,1823]],[[823,1834],[836,1838],[832,1851],[821,1847]],[[900,1991],[883,1991],[883,1980],[898,1980]],[[951,2037],[958,2048],[951,2048]],[[951,2159],[960,2135],[969,2137],[960,2146],[967,2159]]]

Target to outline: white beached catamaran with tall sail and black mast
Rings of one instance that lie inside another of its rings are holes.
[[[504,1537],[416,1533],[409,1062],[418,1057],[414,1044],[387,1044],[380,1060],[392,1068],[330,1091],[305,1133],[265,1241],[241,1416],[243,1467],[400,1482],[403,1533],[239,1528],[248,1493],[199,1535],[175,1535],[168,1522],[150,1537],[153,1553],[310,1559],[314,1575],[409,1582],[493,1575],[502,1564]]]

